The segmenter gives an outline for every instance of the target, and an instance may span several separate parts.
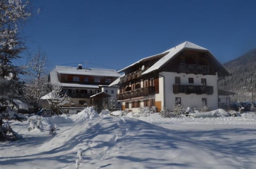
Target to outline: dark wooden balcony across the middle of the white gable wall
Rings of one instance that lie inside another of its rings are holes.
[[[173,85],[173,93],[185,93],[185,94],[213,94],[213,86],[196,86],[196,85]]]

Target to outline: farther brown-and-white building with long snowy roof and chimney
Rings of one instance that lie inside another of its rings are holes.
[[[108,85],[120,76],[116,70],[108,69],[83,69],[78,67],[56,66],[49,74],[49,82],[52,85],[62,87],[70,97],[66,109],[81,111],[83,107],[92,106],[92,95],[104,91],[109,97],[116,99],[116,88],[109,88]],[[110,94],[110,95],[108,95]]]

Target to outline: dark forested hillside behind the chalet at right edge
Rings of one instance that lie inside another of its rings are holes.
[[[256,87],[256,49],[224,64],[232,73],[219,81],[219,87],[233,91],[250,91]]]

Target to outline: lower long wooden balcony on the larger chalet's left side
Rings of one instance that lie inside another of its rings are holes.
[[[155,87],[139,88],[135,90],[125,91],[122,94],[117,94],[117,100],[130,99],[133,97],[148,96],[155,94]]]

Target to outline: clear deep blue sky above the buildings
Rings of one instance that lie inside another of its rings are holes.
[[[41,12],[23,28],[26,45],[44,50],[49,71],[85,61],[87,67],[120,70],[186,40],[209,49],[221,63],[256,48],[256,1],[31,3]]]

